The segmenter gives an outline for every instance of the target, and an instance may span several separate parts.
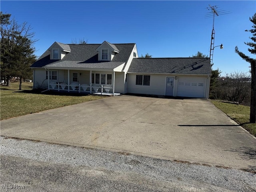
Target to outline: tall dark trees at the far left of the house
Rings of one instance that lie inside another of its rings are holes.
[[[11,14],[0,13],[0,70],[1,78],[4,78],[10,86],[12,77],[20,80],[19,90],[22,89],[22,80],[32,77],[30,66],[36,61],[34,55],[34,32],[27,22],[19,24]]]

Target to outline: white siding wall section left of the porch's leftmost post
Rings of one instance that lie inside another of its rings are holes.
[[[48,88],[45,69],[34,69],[34,89]]]

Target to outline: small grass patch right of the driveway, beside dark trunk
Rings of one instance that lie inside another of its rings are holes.
[[[250,122],[250,107],[244,105],[236,105],[220,101],[210,100],[217,108],[222,110],[231,119],[248,130],[252,135],[256,136],[256,123]]]

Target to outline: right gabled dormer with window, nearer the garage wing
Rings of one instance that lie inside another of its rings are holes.
[[[98,48],[98,60],[99,61],[112,61],[115,54],[119,53],[118,48],[115,45],[104,41]]]

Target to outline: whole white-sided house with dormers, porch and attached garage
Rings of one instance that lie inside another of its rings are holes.
[[[32,64],[34,88],[208,98],[209,58],[138,58],[135,43],[54,42]]]

